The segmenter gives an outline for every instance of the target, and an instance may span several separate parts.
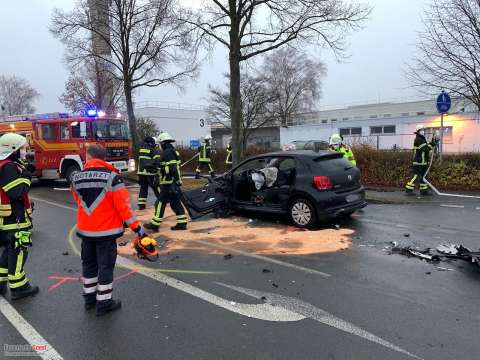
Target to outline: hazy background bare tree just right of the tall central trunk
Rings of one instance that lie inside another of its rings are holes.
[[[321,96],[326,67],[305,52],[291,47],[268,54],[261,74],[275,101],[269,105],[272,116],[286,126],[293,114],[312,111]]]

